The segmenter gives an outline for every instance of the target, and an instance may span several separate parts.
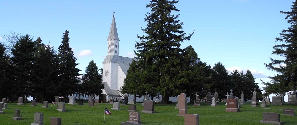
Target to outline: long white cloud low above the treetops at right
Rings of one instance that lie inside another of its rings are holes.
[[[268,77],[267,75],[264,75],[264,71],[258,71],[256,69],[242,69],[240,67],[230,67],[227,68],[228,72],[231,74],[231,72],[233,72],[233,70],[237,69],[238,72],[243,71],[243,73],[245,74],[247,72],[247,70],[250,70],[252,72],[252,74],[254,75],[254,77],[257,78],[266,78]]]

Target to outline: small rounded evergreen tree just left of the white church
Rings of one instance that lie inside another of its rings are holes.
[[[102,83],[102,75],[99,74],[98,67],[95,62],[90,61],[89,65],[86,67],[85,73],[81,78],[83,93],[87,95],[99,95],[104,89],[104,84]]]

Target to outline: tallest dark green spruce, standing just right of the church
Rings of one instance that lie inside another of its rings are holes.
[[[178,15],[172,12],[179,12],[174,4],[178,1],[151,0],[146,5],[151,12],[146,14],[147,27],[142,29],[146,36],[138,36],[136,42],[136,58],[139,60],[141,83],[150,94],[162,95],[163,104],[168,103],[169,96],[177,96],[179,86],[184,84],[180,74],[184,72],[181,42],[190,40],[194,34],[182,31],[184,22],[180,22]]]

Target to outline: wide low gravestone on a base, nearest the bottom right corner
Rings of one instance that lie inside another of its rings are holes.
[[[283,122],[280,121],[279,113],[263,113],[263,120],[261,120],[260,123],[277,125],[283,124]]]

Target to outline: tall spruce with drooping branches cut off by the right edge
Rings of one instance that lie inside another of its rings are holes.
[[[274,45],[272,54],[278,55],[280,59],[272,59],[271,63],[265,64],[266,68],[277,72],[278,74],[268,77],[270,82],[263,82],[268,94],[286,93],[296,90],[297,88],[297,0],[293,1],[291,11],[279,11],[287,15],[286,20],[291,24],[288,29],[282,30],[280,37],[275,41],[281,42]]]

